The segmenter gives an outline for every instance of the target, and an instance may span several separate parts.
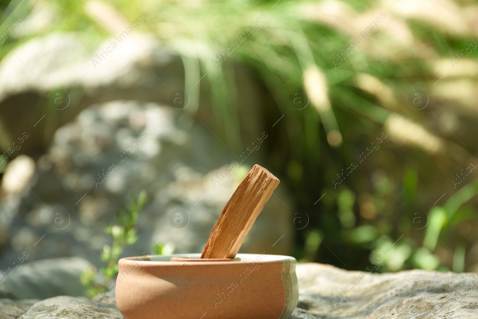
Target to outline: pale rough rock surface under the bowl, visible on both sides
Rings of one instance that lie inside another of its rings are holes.
[[[291,319],[478,318],[478,275],[473,273],[410,270],[379,275],[309,263],[297,266],[297,277],[300,297]],[[0,299],[0,318],[123,318],[113,298],[99,300]]]

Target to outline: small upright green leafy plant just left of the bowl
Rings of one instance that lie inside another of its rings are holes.
[[[146,203],[146,191],[142,190],[136,198],[134,193],[130,194],[130,204],[116,214],[117,225],[110,225],[105,232],[111,235],[113,243],[105,245],[101,252],[101,261],[106,267],[101,267],[100,272],[104,275],[102,282],[97,280],[98,271],[95,267],[89,267],[81,274],[81,283],[87,288],[87,296],[95,297],[108,290],[113,277],[118,274],[118,259],[124,248],[134,244],[136,236],[136,223],[139,212]]]

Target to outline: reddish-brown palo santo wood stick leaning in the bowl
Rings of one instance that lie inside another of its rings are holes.
[[[267,169],[254,165],[222,210],[201,258],[234,258],[279,182]]]

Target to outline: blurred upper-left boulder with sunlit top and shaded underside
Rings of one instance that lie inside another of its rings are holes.
[[[113,41],[92,45],[79,33],[53,32],[9,52],[0,61],[0,149],[25,132],[32,136],[18,152],[42,152],[59,126],[97,101],[167,102],[172,91],[184,88],[181,59],[153,36],[132,33],[104,55]],[[96,65],[98,54],[103,58]]]

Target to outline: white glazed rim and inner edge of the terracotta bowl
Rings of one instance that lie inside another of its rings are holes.
[[[174,264],[182,264],[182,265],[217,265],[220,262],[211,261],[211,262],[172,262],[171,257],[183,257],[186,256],[188,258],[199,258],[201,253],[174,253],[170,255],[147,255],[146,258],[149,260],[142,260],[143,256],[132,256],[132,257],[125,257],[121,258],[120,262],[132,264],[132,263],[139,263],[144,265],[174,265]],[[239,257],[241,260],[237,262],[232,262],[231,264],[251,264],[251,263],[283,263],[285,261],[289,261],[291,264],[297,264],[297,260],[292,256],[286,255],[270,255],[267,253],[238,253],[236,257]],[[151,260],[153,259],[153,260]],[[226,264],[226,263],[221,263]],[[230,263],[227,263],[230,264]]]

